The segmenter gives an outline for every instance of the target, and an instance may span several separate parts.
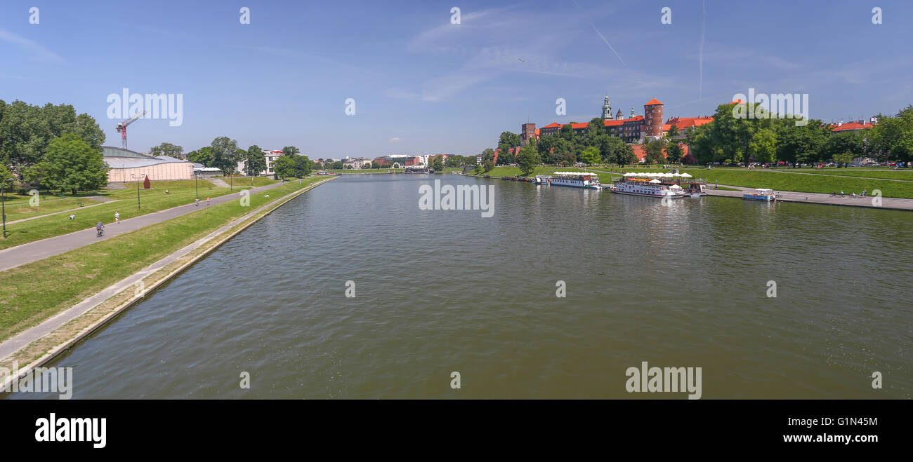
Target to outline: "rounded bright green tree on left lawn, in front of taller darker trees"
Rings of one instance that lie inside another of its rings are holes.
[[[45,183],[53,190],[99,190],[108,184],[108,165],[98,149],[93,149],[75,133],[67,133],[47,145]]]

